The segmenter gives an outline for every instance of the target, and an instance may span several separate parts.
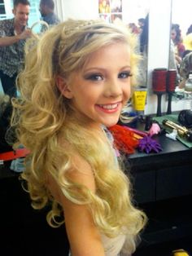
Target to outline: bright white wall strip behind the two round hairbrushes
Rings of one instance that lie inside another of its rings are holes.
[[[157,96],[151,89],[151,75],[154,68],[168,68],[170,43],[171,0],[150,2],[149,48],[148,48],[148,95],[145,113],[155,113]],[[162,97],[162,112],[166,112],[166,95]]]

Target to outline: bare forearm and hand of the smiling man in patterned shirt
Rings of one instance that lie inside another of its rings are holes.
[[[12,37],[0,37],[0,46],[11,46],[15,42],[19,42],[21,39],[30,38],[31,36],[32,31],[30,29],[25,29],[22,33]]]

